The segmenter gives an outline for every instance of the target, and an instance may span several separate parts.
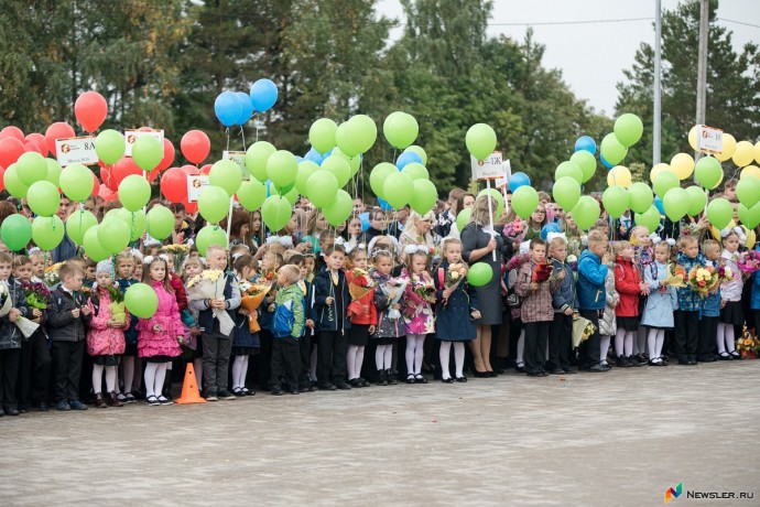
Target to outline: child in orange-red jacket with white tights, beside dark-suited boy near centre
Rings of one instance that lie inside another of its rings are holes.
[[[365,360],[365,347],[369,335],[374,333],[378,324],[378,311],[374,308],[374,289],[369,289],[371,279],[367,272],[367,251],[362,248],[354,248],[348,255],[351,270],[346,273],[348,290],[351,293],[351,303],[348,305],[348,320],[351,328],[348,331],[348,382],[351,387],[369,387],[369,382],[361,377],[361,366]],[[360,270],[360,271],[357,271]],[[354,291],[360,292],[360,296],[354,299]]]

